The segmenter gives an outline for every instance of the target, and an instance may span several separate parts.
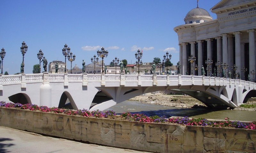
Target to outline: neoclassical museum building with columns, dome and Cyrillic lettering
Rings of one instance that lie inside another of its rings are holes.
[[[186,71],[191,74],[191,69],[192,73],[196,74],[194,67],[197,65],[197,74],[200,76],[203,65],[205,76],[212,76],[215,68],[216,76],[220,74],[220,77],[223,77],[224,69],[226,75],[228,71],[232,73],[231,78],[234,78],[234,72],[239,72],[241,79],[247,80],[250,75],[252,80],[251,71],[256,70],[256,1],[221,0],[210,11],[216,13],[217,19],[212,19],[210,14],[197,4],[196,8],[187,13],[185,24],[174,28],[179,37],[181,74],[185,75]],[[190,55],[196,57],[192,67],[188,61]],[[234,65],[237,67],[236,71],[232,69]]]

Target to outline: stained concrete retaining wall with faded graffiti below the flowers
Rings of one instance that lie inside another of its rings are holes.
[[[79,117],[0,107],[0,126],[152,152],[256,152],[256,130]]]

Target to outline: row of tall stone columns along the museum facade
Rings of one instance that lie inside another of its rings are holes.
[[[250,71],[255,70],[255,30],[250,29],[247,31],[249,35],[249,67],[247,66],[247,73],[250,74]],[[244,43],[248,42],[248,38],[242,38],[241,41],[241,34],[243,33],[241,31],[237,31],[234,33],[223,33],[220,34],[220,36],[217,36],[215,38],[208,38],[205,40],[197,40],[197,41],[191,41],[191,42],[183,42],[179,44],[180,46],[180,63],[181,63],[181,74],[185,75],[186,71],[189,69],[188,67],[188,57],[187,57],[187,45],[190,44],[190,51],[192,55],[196,55],[196,43],[198,46],[197,49],[197,57],[196,62],[193,63],[193,67],[197,64],[199,66],[198,69],[198,75],[202,75],[201,73],[201,67],[202,65],[205,68],[204,61],[213,58],[212,53],[217,52],[217,61],[220,61],[220,63],[226,63],[226,65],[229,65],[228,70],[232,72],[231,67],[235,64],[237,67],[236,73],[241,74],[241,69],[243,69],[245,66],[245,50],[244,50]],[[243,35],[244,36],[244,35]],[[233,37],[235,38],[235,42],[233,41]],[[212,40],[217,40],[217,47],[216,50],[212,50]],[[203,42],[206,41],[207,43],[207,52],[204,52],[204,55],[207,55],[207,59],[203,59]],[[234,46],[235,43],[235,46]],[[234,48],[235,47],[235,48]],[[235,55],[234,55],[235,54]],[[234,61],[235,60],[235,61]],[[215,63],[212,63],[212,69],[215,66]],[[220,69],[222,70],[221,66]],[[218,69],[217,69],[218,72]],[[205,69],[205,73],[207,76],[207,72]],[[193,74],[195,73],[195,70],[193,69]],[[234,74],[233,74],[234,75]],[[251,74],[250,74],[251,75]],[[210,73],[210,76],[211,73]],[[222,76],[222,73],[220,73],[220,77]],[[250,76],[252,78],[252,76]],[[247,79],[247,77],[245,77]],[[241,74],[241,79],[244,79],[244,76]],[[245,80],[246,80],[245,79]]]

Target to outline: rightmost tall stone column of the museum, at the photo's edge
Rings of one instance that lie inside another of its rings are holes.
[[[254,29],[247,30],[249,33],[249,72],[252,70],[256,70],[255,67],[255,36],[254,36]],[[250,73],[251,74],[251,73]],[[251,77],[252,78],[252,77]]]

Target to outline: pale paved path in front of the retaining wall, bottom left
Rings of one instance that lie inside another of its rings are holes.
[[[0,153],[143,153],[43,136],[0,126]],[[146,153],[146,152],[144,152]]]

